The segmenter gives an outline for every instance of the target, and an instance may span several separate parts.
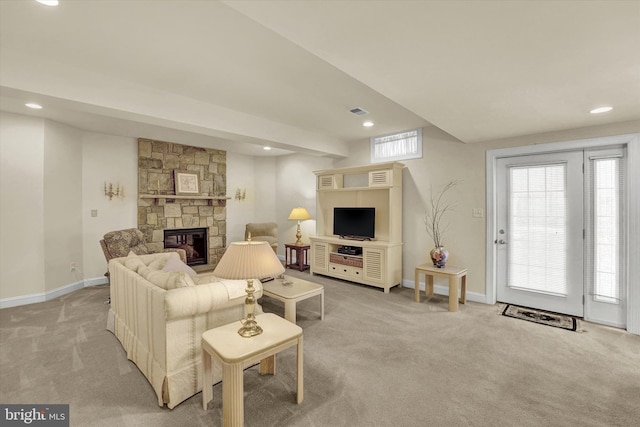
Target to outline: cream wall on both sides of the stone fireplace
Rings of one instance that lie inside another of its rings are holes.
[[[3,112],[0,142],[0,303],[104,282],[99,240],[137,223],[137,140]],[[229,155],[229,195],[247,190],[245,201],[228,201],[230,241],[244,238],[247,222],[276,219],[276,165],[276,158]],[[109,200],[105,181],[123,185],[124,197]]]

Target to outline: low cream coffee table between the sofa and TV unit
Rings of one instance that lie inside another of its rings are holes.
[[[290,284],[283,284],[283,279],[274,279],[262,284],[262,294],[284,303],[284,318],[296,323],[296,303],[307,298],[320,295],[320,320],[324,320],[324,287],[295,277],[286,277]]]

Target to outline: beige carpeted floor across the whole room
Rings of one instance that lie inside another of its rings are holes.
[[[569,332],[501,315],[502,306],[379,289],[291,270],[325,286],[298,304],[305,400],[295,349],[275,376],[245,372],[247,426],[635,426],[640,336],[581,322]],[[107,286],[0,310],[0,402],[68,403],[72,426],[221,425],[221,385],[175,409],[105,330]],[[267,312],[282,303],[263,298]]]

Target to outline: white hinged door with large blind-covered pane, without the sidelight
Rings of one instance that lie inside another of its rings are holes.
[[[583,153],[497,161],[497,299],[584,315]]]

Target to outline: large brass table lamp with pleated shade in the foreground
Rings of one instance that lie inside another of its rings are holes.
[[[213,274],[223,279],[242,279],[247,281],[247,318],[242,321],[238,333],[245,337],[253,337],[262,333],[253,314],[256,300],[253,297],[255,288],[253,280],[284,273],[284,266],[267,242],[232,242],[218,262]]]

